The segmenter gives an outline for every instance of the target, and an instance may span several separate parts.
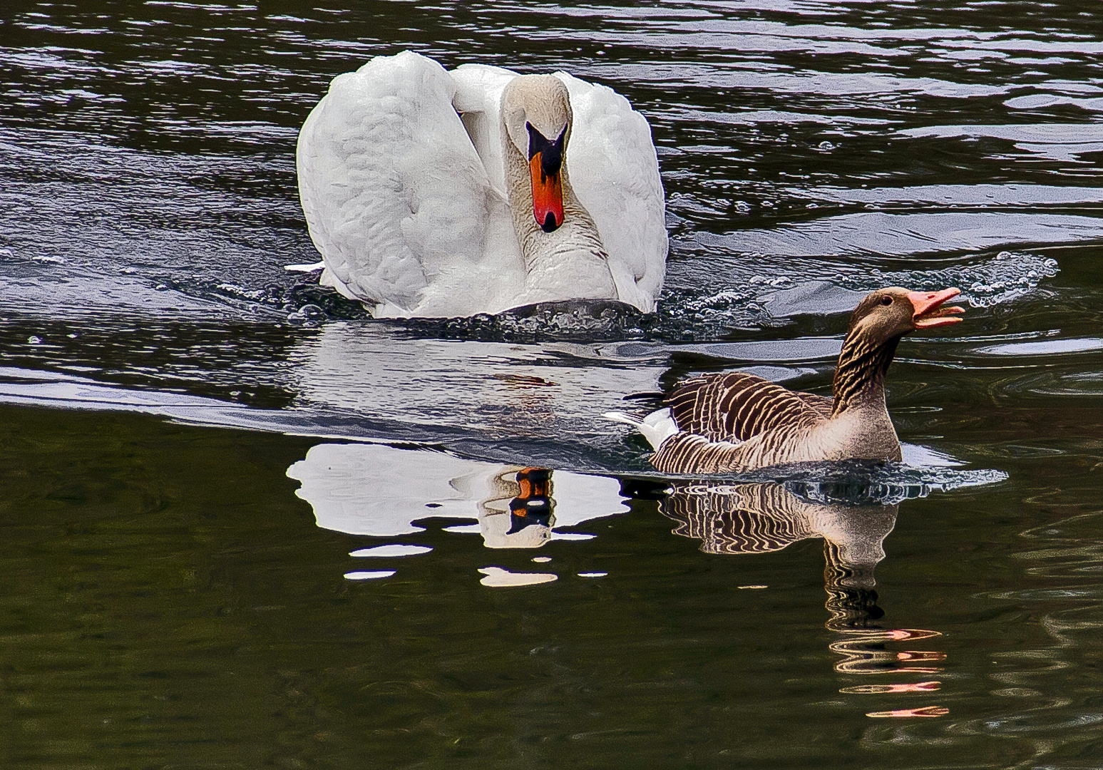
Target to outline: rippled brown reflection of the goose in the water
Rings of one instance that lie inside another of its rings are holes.
[[[882,544],[896,525],[898,505],[848,505],[794,494],[785,484],[698,484],[674,482],[660,503],[677,522],[674,534],[700,541],[707,554],[763,554],[797,541],[824,541],[824,588],[831,614],[826,627],[838,634],[829,649],[840,674],[915,674],[942,671],[941,652],[897,651],[889,643],[940,635],[938,631],[891,629],[881,621],[874,569],[885,558]],[[843,693],[922,693],[939,682],[867,684]],[[871,712],[875,717],[941,716],[938,706]]]

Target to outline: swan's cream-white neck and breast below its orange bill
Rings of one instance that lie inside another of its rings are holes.
[[[575,195],[567,175],[567,162],[560,170],[564,221],[557,229],[545,233],[533,215],[533,182],[528,163],[502,127],[502,154],[505,184],[510,196],[513,227],[525,259],[525,286],[532,301],[542,295],[561,299],[564,289],[577,299],[617,298],[617,287],[609,271],[609,256],[593,218]]]

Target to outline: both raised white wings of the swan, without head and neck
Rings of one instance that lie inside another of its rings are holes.
[[[619,299],[652,311],[667,239],[647,121],[610,88],[556,75],[575,114],[570,183],[597,225]],[[376,316],[470,316],[523,303],[500,115],[515,76],[486,65],[449,73],[404,52],[333,79],[297,153],[324,284],[374,303]]]

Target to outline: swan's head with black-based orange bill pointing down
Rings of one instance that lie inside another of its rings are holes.
[[[554,75],[518,75],[502,93],[502,122],[508,140],[528,159],[533,216],[545,233],[563,224],[561,178],[570,120],[570,95]]]

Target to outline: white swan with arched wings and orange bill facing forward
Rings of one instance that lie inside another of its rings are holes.
[[[565,299],[655,309],[658,163],[647,121],[610,88],[378,56],[333,79],[297,162],[322,284],[377,317]]]

